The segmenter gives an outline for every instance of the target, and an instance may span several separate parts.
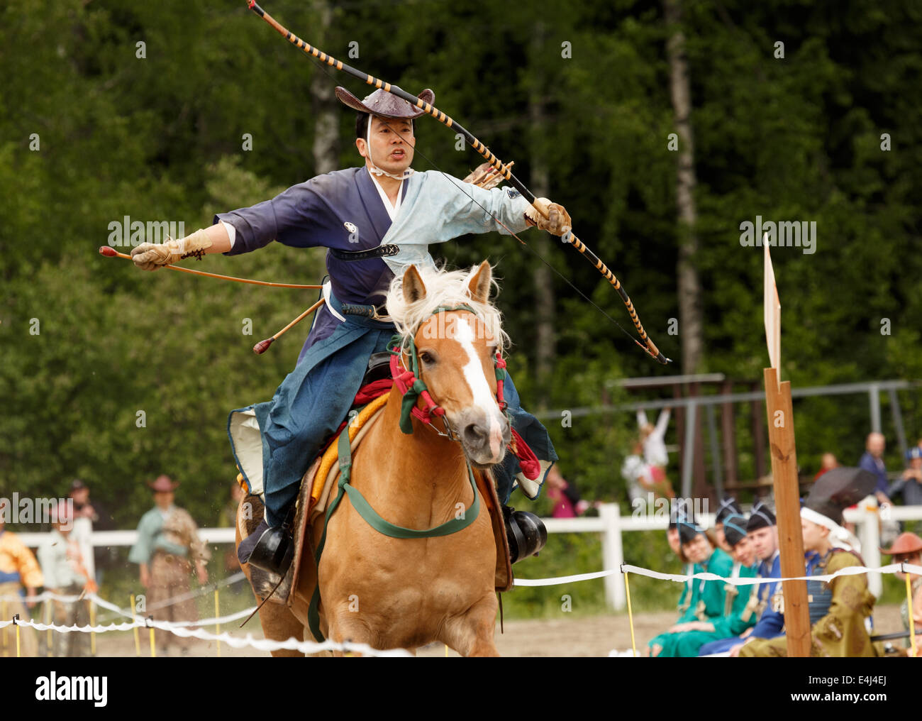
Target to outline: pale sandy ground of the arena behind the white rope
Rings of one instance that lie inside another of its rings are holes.
[[[634,634],[637,647],[657,633],[665,631],[675,621],[674,611],[641,613],[634,615]],[[902,629],[899,607],[881,606],[874,612],[875,632],[895,632]],[[231,632],[235,637],[243,638],[246,630],[238,629],[239,621],[232,628],[221,631]],[[262,632],[254,619],[247,624],[247,630],[254,638],[261,638]],[[213,628],[207,629],[214,632]],[[139,630],[141,656],[150,656],[149,632]],[[505,621],[504,632],[496,628],[496,645],[502,656],[609,656],[609,651],[617,649],[627,651],[631,648],[631,626],[627,614],[609,616],[574,617],[553,621]],[[15,653],[15,646],[13,647]],[[158,656],[161,656],[160,649]],[[221,644],[221,656],[269,656],[267,652],[254,648],[231,648]],[[0,654],[3,655],[3,654]],[[98,656],[136,656],[136,646],[132,632],[110,632],[97,635]],[[213,641],[192,640],[190,656],[216,656],[217,647]],[[454,651],[449,656],[457,656]],[[171,648],[169,656],[180,656],[177,648]],[[444,657],[443,644],[431,644],[420,649],[418,656]]]

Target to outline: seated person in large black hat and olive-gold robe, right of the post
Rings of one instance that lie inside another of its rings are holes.
[[[874,491],[877,479],[861,468],[833,468],[810,489],[800,509],[808,576],[863,566],[857,540],[842,526],[842,511]],[[874,608],[867,574],[808,581],[810,656],[877,656],[865,620]],[[739,656],[787,656],[787,639],[753,637]]]

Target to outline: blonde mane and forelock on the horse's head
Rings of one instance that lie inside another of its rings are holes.
[[[444,270],[417,266],[426,287],[426,295],[419,301],[408,302],[403,292],[403,276],[396,276],[387,291],[387,314],[394,320],[401,345],[406,348],[420,325],[440,306],[469,305],[483,321],[487,332],[497,342],[500,350],[509,345],[509,336],[502,330],[502,313],[490,301],[475,301],[467,290],[467,284],[477,273],[479,266],[470,270]],[[491,279],[491,295],[499,285]]]

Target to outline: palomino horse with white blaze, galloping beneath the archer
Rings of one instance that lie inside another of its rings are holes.
[[[496,398],[494,362],[506,336],[489,301],[491,284],[486,261],[470,272],[420,274],[410,266],[392,283],[387,312],[403,338],[402,362],[410,366],[415,344],[420,380],[444,415],[428,426],[411,416],[413,432],[401,431],[404,398],[395,384],[356,450],[351,485],[391,524],[429,529],[473,516],[479,491],[468,463],[486,469],[505,454],[511,431]],[[423,407],[421,397],[416,405]],[[498,655],[497,551],[482,499],[477,516],[449,535],[391,538],[372,528],[345,496],[330,516],[315,567],[321,521],[312,529],[313,549],[301,557],[290,608],[269,603],[260,610],[267,638],[312,638],[308,608],[319,574],[325,638],[379,649],[439,641],[462,656]]]

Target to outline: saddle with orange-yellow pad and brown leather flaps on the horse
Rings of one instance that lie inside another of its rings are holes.
[[[381,383],[390,379],[388,356],[389,354],[387,353],[372,356],[372,360],[369,361],[369,370],[366,372],[362,389],[357,398],[367,398],[369,395],[368,389],[371,385],[374,385],[375,382]],[[349,432],[349,441],[353,453],[375,420],[378,419],[384,405],[387,403],[387,397],[386,393],[377,396],[361,409],[356,420],[349,423],[349,425],[344,423],[343,427],[340,428],[339,433]],[[267,573],[254,567],[250,569],[250,580],[254,587],[254,592],[261,597],[271,594],[269,598],[271,603],[286,604],[289,607],[292,605],[294,602],[292,590],[297,588],[299,583],[301,556],[306,551],[313,558],[313,524],[315,522],[323,523],[327,503],[332,500],[333,496],[330,491],[335,489],[337,485],[339,469],[336,441],[339,433],[334,434],[325,451],[314,460],[301,479],[301,489],[293,508],[293,518],[290,518],[290,524],[294,528],[294,558],[284,581],[278,585],[280,580],[278,575]],[[506,528],[502,515],[502,504],[496,493],[495,480],[489,471],[479,470],[474,470],[474,480],[480,497],[490,512],[493,538],[496,542],[495,587],[497,591],[509,591],[512,589],[514,577],[509,540],[506,538]],[[245,529],[242,528],[242,531],[245,530],[245,534],[242,533],[242,536],[249,535],[254,530],[255,526],[259,524],[263,512],[263,505],[258,496],[249,496],[247,500],[254,503],[254,519],[249,519],[246,522]],[[278,585],[278,589],[273,593],[272,589],[276,585]]]

